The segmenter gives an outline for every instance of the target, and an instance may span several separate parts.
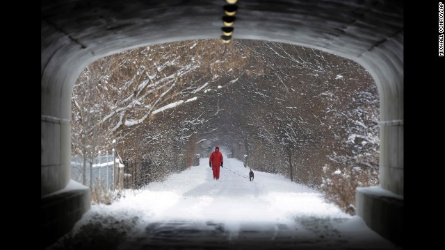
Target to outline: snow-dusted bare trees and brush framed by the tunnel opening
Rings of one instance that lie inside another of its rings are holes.
[[[232,46],[219,40],[156,44],[86,67],[73,90],[73,153],[95,151],[86,158],[97,164],[98,151],[111,151],[117,140],[128,174],[120,189],[140,190],[184,171],[191,156],[198,165],[220,145],[247,169],[282,174],[325,192],[328,201],[355,215],[355,188],[378,184],[379,100],[369,73],[346,58],[291,44],[234,40]],[[291,153],[298,157],[289,158],[289,142],[307,150],[296,147]],[[326,149],[330,153],[323,155]],[[95,174],[86,169],[87,177],[100,176],[100,167]],[[366,174],[357,174],[361,170]],[[72,171],[72,178],[82,182],[76,176],[81,172]],[[108,178],[109,169],[105,172]],[[91,185],[88,178],[84,185]],[[111,197],[101,202],[97,183],[92,185],[93,203],[112,202]]]

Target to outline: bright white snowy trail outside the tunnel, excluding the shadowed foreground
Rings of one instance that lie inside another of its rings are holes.
[[[249,169],[239,160],[225,157],[220,179],[214,180],[209,160],[202,158],[180,174],[163,183],[152,183],[139,194],[152,192],[168,195],[168,206],[152,210],[157,219],[212,219],[223,222],[280,222],[293,215],[334,215],[350,217],[339,208],[325,203],[323,195],[291,183],[275,174],[254,171],[249,181]],[[147,202],[149,206],[149,202]]]

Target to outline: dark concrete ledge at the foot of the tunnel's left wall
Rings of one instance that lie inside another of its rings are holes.
[[[41,199],[40,248],[49,247],[66,233],[91,208],[89,188],[67,190]]]

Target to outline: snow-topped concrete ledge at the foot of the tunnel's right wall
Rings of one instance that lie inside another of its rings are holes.
[[[357,215],[366,226],[394,244],[403,244],[403,197],[380,187],[357,188]]]

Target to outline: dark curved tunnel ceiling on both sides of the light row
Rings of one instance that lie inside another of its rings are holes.
[[[99,57],[144,44],[220,38],[224,5],[224,1],[199,0],[44,1],[42,72],[45,67],[64,67],[58,60],[55,65],[46,63],[58,53],[76,54],[76,60],[63,62],[79,66],[72,72],[76,77]],[[233,38],[308,45],[346,58],[362,56],[403,33],[403,1],[238,1],[236,5]]]

